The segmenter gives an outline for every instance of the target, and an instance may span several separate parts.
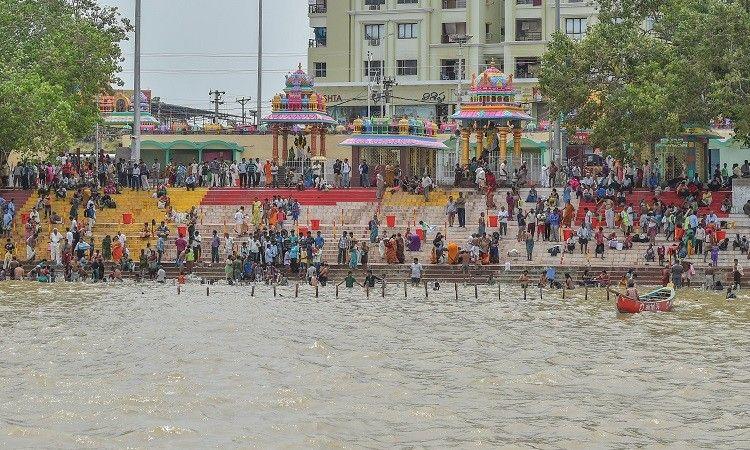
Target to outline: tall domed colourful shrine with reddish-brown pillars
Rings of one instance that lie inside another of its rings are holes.
[[[311,156],[326,156],[326,126],[335,125],[336,120],[326,113],[325,97],[316,93],[314,86],[315,78],[305,73],[300,64],[296,71],[286,76],[284,92],[271,101],[271,114],[262,121],[271,127],[274,160],[279,161],[279,135],[282,139],[281,161],[289,158],[288,139],[295,125],[304,126],[309,134]]]

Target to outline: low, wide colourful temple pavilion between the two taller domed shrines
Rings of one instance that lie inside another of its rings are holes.
[[[437,153],[448,150],[437,138],[437,124],[417,118],[373,117],[355,119],[352,125],[352,137],[339,144],[352,147],[352,167],[365,160],[372,168],[398,167],[408,178],[425,172],[436,178]],[[357,171],[353,171],[353,182],[359,182]]]

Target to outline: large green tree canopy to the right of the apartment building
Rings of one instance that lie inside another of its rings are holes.
[[[750,137],[750,11],[725,0],[598,0],[574,41],[556,33],[539,80],[552,114],[606,149],[653,145],[731,118]]]

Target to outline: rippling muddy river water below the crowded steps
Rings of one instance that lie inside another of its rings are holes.
[[[2,283],[0,444],[750,448],[746,292],[380,294]]]

